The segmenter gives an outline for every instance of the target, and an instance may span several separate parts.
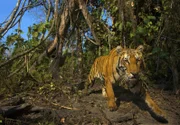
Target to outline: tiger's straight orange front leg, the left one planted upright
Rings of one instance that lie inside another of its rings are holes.
[[[108,107],[110,111],[115,111],[117,110],[117,105],[115,102],[114,91],[113,91],[112,83],[108,79],[105,80],[105,87],[107,93]]]

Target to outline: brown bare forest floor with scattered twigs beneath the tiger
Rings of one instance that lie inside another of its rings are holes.
[[[87,96],[73,93],[68,86],[62,91],[32,90],[1,96],[0,125],[180,125],[180,96],[172,91],[149,88],[153,100],[167,114],[168,123],[161,123],[150,115],[142,100],[122,88],[115,92],[118,110],[109,111],[100,88],[94,86]]]

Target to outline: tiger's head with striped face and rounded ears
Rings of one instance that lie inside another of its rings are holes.
[[[143,66],[143,50],[142,45],[136,49],[117,47],[119,56],[117,70],[123,76],[123,80],[134,81],[138,79]]]

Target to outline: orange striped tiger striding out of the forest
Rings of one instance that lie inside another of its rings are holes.
[[[139,74],[145,65],[143,50],[143,45],[139,45],[136,49],[117,46],[108,55],[96,58],[90,69],[85,90],[88,92],[88,88],[94,85],[95,78],[103,80],[105,88],[102,92],[107,98],[108,108],[110,111],[115,111],[118,107],[113,84],[124,81],[132,93],[138,94],[144,100],[157,120],[167,122],[165,112],[152,100],[147,89],[139,82]]]

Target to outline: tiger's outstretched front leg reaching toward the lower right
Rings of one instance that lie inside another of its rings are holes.
[[[166,119],[166,114],[159,106],[152,100],[148,91],[143,87],[142,84],[138,83],[132,90],[133,93],[138,94],[147,104],[150,109],[150,114],[160,122],[168,122]]]

